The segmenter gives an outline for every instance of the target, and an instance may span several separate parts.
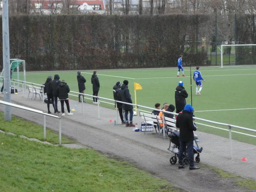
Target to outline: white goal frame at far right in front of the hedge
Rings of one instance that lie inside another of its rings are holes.
[[[221,45],[221,68],[227,65],[256,65],[256,44]]]

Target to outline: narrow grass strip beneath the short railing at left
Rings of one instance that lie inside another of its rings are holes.
[[[35,138],[44,141],[44,127],[33,122],[23,120],[17,116],[12,116],[11,121],[4,121],[3,112],[0,112],[0,129],[5,132],[12,132],[17,135],[24,135],[29,138]],[[46,141],[52,144],[58,144],[58,133],[50,129],[46,130]],[[61,143],[75,143],[67,137],[61,137]]]

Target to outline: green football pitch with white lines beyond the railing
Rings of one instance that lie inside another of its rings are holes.
[[[192,67],[192,74],[195,67]],[[86,79],[85,93],[92,95],[90,82],[93,70],[81,70]],[[186,77],[176,77],[176,68],[156,69],[127,69],[127,70],[97,70],[100,90],[99,96],[113,99],[113,85],[117,81],[129,81],[128,88],[134,100],[134,82],[139,83],[143,89],[137,90],[137,104],[154,108],[159,102],[175,105],[175,88],[179,81],[184,82],[184,87],[189,96],[187,104],[191,104],[190,70],[184,68]],[[58,74],[60,80],[65,80],[70,90],[78,92],[76,71],[42,71],[27,72],[26,81],[43,84],[47,76]],[[201,96],[195,95],[195,82],[192,79],[192,105],[195,108],[195,116],[212,121],[238,125],[241,127],[256,129],[256,66],[252,67],[201,67],[203,90]],[[21,75],[20,75],[21,76]],[[16,73],[12,76],[16,79]],[[71,97],[72,98],[72,97]],[[77,99],[77,98],[72,98]],[[85,99],[92,103],[92,100]],[[113,108],[113,105],[101,103],[101,106]],[[145,111],[149,111],[143,109]],[[213,125],[215,126],[215,125]],[[199,126],[201,131],[228,137],[227,131]],[[235,129],[234,129],[235,130]],[[241,130],[235,130],[244,132]],[[252,134],[251,132],[246,132]],[[254,137],[245,137],[233,134],[234,139],[253,142]]]

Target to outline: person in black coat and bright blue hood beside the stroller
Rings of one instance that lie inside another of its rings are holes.
[[[182,113],[177,115],[176,127],[180,128],[180,149],[179,149],[179,169],[185,168],[182,164],[183,153],[186,151],[189,157],[189,170],[200,169],[194,165],[194,133],[196,127],[193,123],[194,108],[191,105],[185,105]],[[187,147],[187,148],[186,148]]]

